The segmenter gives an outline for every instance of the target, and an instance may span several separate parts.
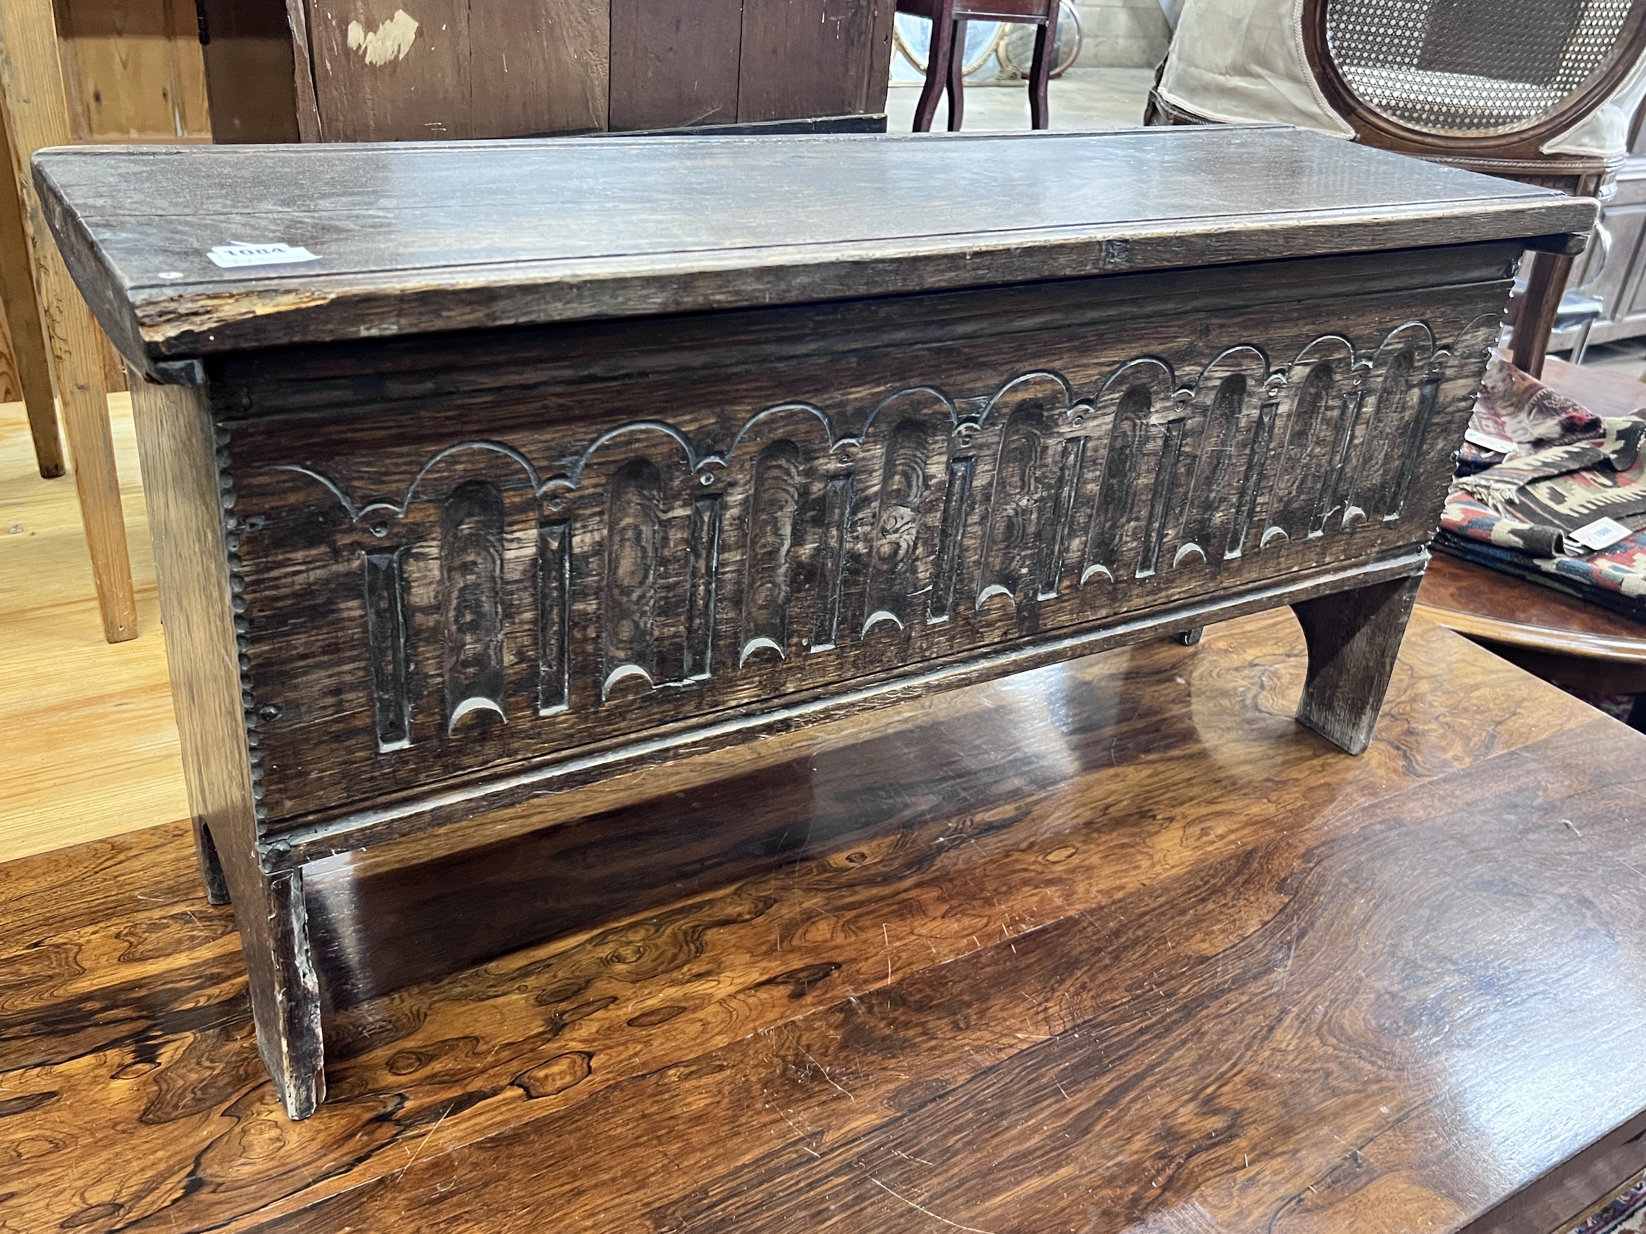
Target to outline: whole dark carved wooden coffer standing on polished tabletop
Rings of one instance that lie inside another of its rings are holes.
[[[1524,248],[1286,128],[51,150],[143,382],[201,869],[324,1094],[303,865],[1290,604],[1366,747]]]

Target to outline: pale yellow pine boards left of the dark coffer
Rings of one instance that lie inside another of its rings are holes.
[[[188,818],[128,395],[110,395],[142,635],[102,638],[74,480],[0,403],[0,862]]]

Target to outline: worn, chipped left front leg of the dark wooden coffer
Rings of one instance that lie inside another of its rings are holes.
[[[234,921],[252,987],[257,1048],[286,1114],[306,1119],[326,1099],[319,977],[308,941],[303,872],[262,874],[250,852],[224,854]],[[235,861],[235,856],[240,861]]]

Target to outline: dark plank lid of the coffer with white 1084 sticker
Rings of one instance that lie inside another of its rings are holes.
[[[35,176],[82,293],[150,373],[296,342],[1317,253],[1577,252],[1597,211],[1271,125],[74,146],[40,151]]]

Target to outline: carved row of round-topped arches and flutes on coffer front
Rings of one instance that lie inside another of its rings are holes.
[[[374,538],[360,673],[393,754],[823,656],[849,675],[938,630],[1076,620],[1118,587],[1397,523],[1447,365],[1490,326],[1437,346],[1411,321],[1369,354],[1327,334],[1279,367],[1241,344],[1192,377],[1144,355],[1086,390],[909,387],[854,431],[788,401],[719,441],[665,420],[551,457],[467,441],[397,500],[278,471]]]

